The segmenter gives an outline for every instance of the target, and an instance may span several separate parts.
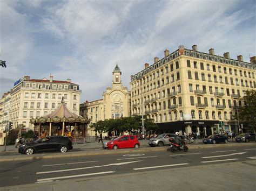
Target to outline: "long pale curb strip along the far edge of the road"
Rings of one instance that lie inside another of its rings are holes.
[[[215,148],[215,147],[233,147],[233,146],[256,146],[256,143],[242,143],[242,144],[218,144],[218,145],[190,145],[188,148],[197,149],[197,148]],[[29,155],[19,155],[12,158],[0,159],[0,162],[10,162],[10,161],[24,161],[24,160],[40,160],[40,159],[53,159],[53,158],[70,158],[70,157],[86,157],[91,155],[103,155],[103,154],[127,154],[127,153],[141,153],[141,152],[160,152],[166,151],[167,146],[164,147],[145,147],[145,148],[130,148],[125,150],[99,150],[99,151],[78,151],[79,153],[54,153],[54,154],[45,154],[39,156],[29,156]]]

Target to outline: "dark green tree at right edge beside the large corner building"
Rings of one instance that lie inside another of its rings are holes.
[[[238,111],[239,121],[245,129],[256,130],[256,91],[247,90],[242,98],[245,105]]]

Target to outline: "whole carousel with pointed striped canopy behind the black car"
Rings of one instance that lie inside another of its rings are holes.
[[[34,125],[35,135],[45,136],[69,136],[73,140],[86,137],[87,124],[90,123],[84,117],[73,113],[65,104],[64,97],[60,106],[43,117],[31,118],[30,123]]]

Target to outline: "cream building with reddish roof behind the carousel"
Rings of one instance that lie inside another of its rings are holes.
[[[15,82],[10,91],[8,119],[13,122],[14,128],[23,124],[27,129],[33,130],[30,118],[41,117],[56,109],[62,97],[68,107],[79,114],[80,94],[78,84],[66,81],[30,79],[24,76],[23,79]]]

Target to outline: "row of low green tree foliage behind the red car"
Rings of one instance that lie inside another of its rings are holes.
[[[146,131],[156,131],[158,126],[153,119],[144,118],[144,126]],[[118,119],[106,119],[91,124],[91,128],[96,132],[114,132],[114,135],[123,135],[123,132],[136,133],[142,132],[142,116],[122,117]]]

